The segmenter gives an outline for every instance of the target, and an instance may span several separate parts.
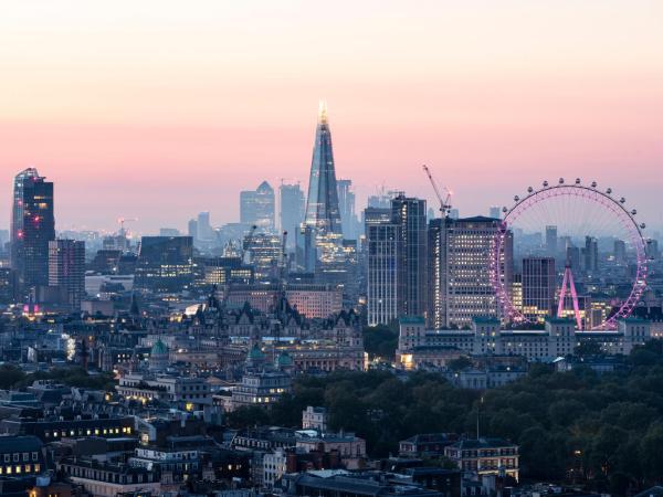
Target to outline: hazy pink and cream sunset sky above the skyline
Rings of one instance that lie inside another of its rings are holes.
[[[663,1],[1,0],[0,226],[32,165],[60,230],[234,221],[320,97],[361,204],[428,163],[462,214],[580,176],[663,224]]]

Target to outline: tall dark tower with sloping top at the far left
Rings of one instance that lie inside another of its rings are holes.
[[[55,240],[53,183],[29,168],[14,178],[11,218],[11,266],[21,297],[49,283],[51,240]]]

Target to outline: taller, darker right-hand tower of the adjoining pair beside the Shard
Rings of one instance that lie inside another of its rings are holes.
[[[400,315],[423,316],[427,311],[425,200],[399,194],[391,200],[391,220],[400,226]]]

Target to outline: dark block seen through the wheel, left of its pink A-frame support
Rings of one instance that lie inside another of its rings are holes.
[[[552,316],[556,281],[555,257],[523,260],[523,315],[527,319],[544,321]]]

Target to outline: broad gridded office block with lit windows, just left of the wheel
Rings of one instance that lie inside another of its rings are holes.
[[[428,320],[434,328],[470,326],[475,317],[498,317],[492,261],[499,221],[475,216],[435,219],[429,232],[430,302]],[[499,257],[506,288],[513,286],[513,236]]]

